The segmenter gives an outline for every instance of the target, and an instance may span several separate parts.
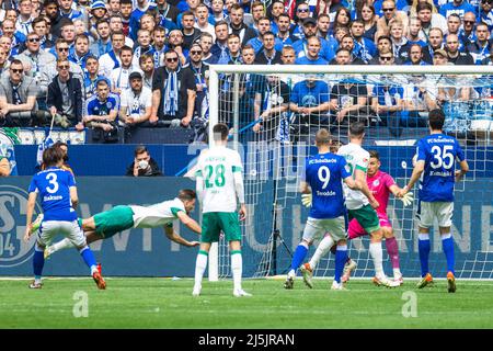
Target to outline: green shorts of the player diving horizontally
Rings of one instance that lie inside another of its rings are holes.
[[[115,206],[94,215],[96,233],[107,239],[134,226],[134,212],[129,206]]]

